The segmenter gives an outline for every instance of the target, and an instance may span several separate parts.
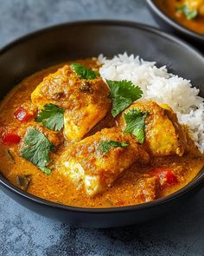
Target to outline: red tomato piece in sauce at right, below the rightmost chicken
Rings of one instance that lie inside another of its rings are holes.
[[[178,180],[177,180],[175,174],[169,169],[156,168],[153,171],[151,171],[151,174],[155,174],[156,177],[158,177],[160,184],[162,186],[174,185],[174,184],[178,183]]]

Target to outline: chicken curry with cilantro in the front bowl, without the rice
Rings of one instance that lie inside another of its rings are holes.
[[[162,198],[204,164],[168,105],[141,100],[129,81],[106,81],[97,59],[24,79],[0,106],[0,164],[16,187],[78,207]]]

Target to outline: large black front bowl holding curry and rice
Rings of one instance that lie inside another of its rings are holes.
[[[160,30],[128,22],[92,21],[61,24],[24,36],[0,51],[0,97],[3,98],[22,78],[35,71],[71,59],[114,56],[118,53],[139,55],[144,60],[167,65],[169,71],[191,79],[204,96],[204,58],[187,43]],[[192,70],[193,67],[193,70]],[[175,194],[133,207],[91,209],[67,207],[42,200],[10,184],[0,176],[6,194],[36,213],[75,226],[127,226],[171,213],[203,185],[204,170],[194,181]]]

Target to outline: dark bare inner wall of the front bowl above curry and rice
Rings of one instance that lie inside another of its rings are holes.
[[[2,49],[0,98],[24,77],[55,63],[99,54],[114,56],[124,51],[156,61],[158,66],[166,65],[170,72],[190,79],[204,96],[204,58],[187,43],[138,23],[92,21],[41,30]],[[1,176],[0,181],[15,190]]]

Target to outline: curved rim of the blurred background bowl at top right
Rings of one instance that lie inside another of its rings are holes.
[[[153,10],[157,16],[160,16],[166,23],[169,23],[172,27],[174,27],[176,30],[179,30],[183,34],[188,35],[191,38],[194,38],[196,40],[200,40],[204,42],[204,35],[195,32],[194,30],[189,30],[187,27],[183,26],[181,23],[176,22],[173,18],[166,15],[163,10],[155,3],[154,0],[146,0],[146,3],[149,4],[150,9]]]

